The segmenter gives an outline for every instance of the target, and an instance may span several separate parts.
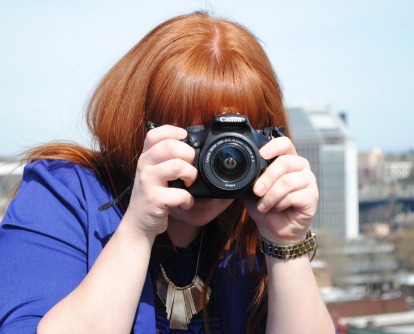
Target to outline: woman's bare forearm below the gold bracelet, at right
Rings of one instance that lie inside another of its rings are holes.
[[[279,260],[266,256],[269,274],[267,333],[334,334],[307,256]]]

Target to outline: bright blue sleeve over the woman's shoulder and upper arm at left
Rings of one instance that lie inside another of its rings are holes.
[[[91,218],[98,210],[90,199],[100,184],[92,170],[67,161],[25,166],[0,223],[0,276],[7,272],[0,282],[0,332],[34,332],[40,316],[84,278],[102,249],[90,237],[104,221]]]

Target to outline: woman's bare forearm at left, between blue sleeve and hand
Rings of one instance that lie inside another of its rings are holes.
[[[82,283],[41,320],[38,333],[130,333],[152,243],[121,222]]]

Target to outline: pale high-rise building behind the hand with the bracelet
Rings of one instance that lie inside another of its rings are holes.
[[[328,107],[288,108],[298,154],[309,160],[319,186],[313,228],[339,240],[359,235],[357,147],[345,115]]]

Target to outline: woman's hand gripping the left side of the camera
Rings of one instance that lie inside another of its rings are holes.
[[[195,151],[181,142],[187,132],[171,125],[148,132],[138,159],[134,187],[126,217],[140,232],[155,237],[167,229],[169,208],[189,209],[194,202],[184,189],[169,188],[180,178],[190,186],[197,177],[192,165]]]

